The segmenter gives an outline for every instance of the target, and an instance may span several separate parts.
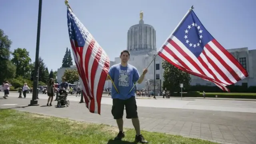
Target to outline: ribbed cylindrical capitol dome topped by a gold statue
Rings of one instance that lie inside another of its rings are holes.
[[[142,11],[139,24],[131,26],[127,32],[127,50],[133,55],[156,51],[156,30],[144,24]]]

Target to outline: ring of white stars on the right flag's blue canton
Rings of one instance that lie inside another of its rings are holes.
[[[189,32],[190,28],[192,28],[192,27],[196,27],[196,29],[198,30],[198,32],[199,32],[199,34],[200,34],[200,36],[199,36],[200,40],[198,41],[197,44],[193,44],[193,43],[191,43],[191,42],[188,40],[188,32]],[[200,27],[201,27],[201,26],[198,26],[198,24],[196,24],[196,23],[193,22],[192,24],[188,25],[188,28],[185,30],[185,36],[184,36],[184,38],[185,38],[185,40],[186,40],[186,43],[189,45],[189,47],[192,46],[192,47],[196,48],[197,46],[200,46],[200,44],[202,43],[201,39],[203,38],[203,36],[202,36],[203,30],[202,30]]]

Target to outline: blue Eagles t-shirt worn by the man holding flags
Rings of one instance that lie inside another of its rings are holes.
[[[119,92],[119,94],[116,92],[116,89],[112,84],[112,98],[126,100],[132,96],[135,96],[135,88],[133,88],[133,90],[131,90],[131,88],[133,87],[134,82],[137,82],[137,80],[140,78],[137,68],[130,64],[128,64],[126,67],[122,66],[121,64],[115,64],[111,66],[108,74],[114,81],[114,84]]]

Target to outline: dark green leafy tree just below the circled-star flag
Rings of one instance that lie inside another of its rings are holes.
[[[164,69],[163,89],[170,90],[170,92],[180,92],[180,84],[187,89],[190,86],[190,74],[176,68],[169,62],[163,60],[162,66]]]

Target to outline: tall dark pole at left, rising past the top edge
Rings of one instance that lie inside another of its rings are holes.
[[[39,45],[40,45],[40,29],[41,29],[41,16],[42,16],[42,0],[39,0],[38,6],[38,21],[37,21],[37,38],[36,38],[36,60],[35,60],[35,72],[34,72],[34,83],[33,83],[33,94],[32,100],[28,106],[38,106],[37,98],[37,87],[38,87],[38,70],[39,70]]]

